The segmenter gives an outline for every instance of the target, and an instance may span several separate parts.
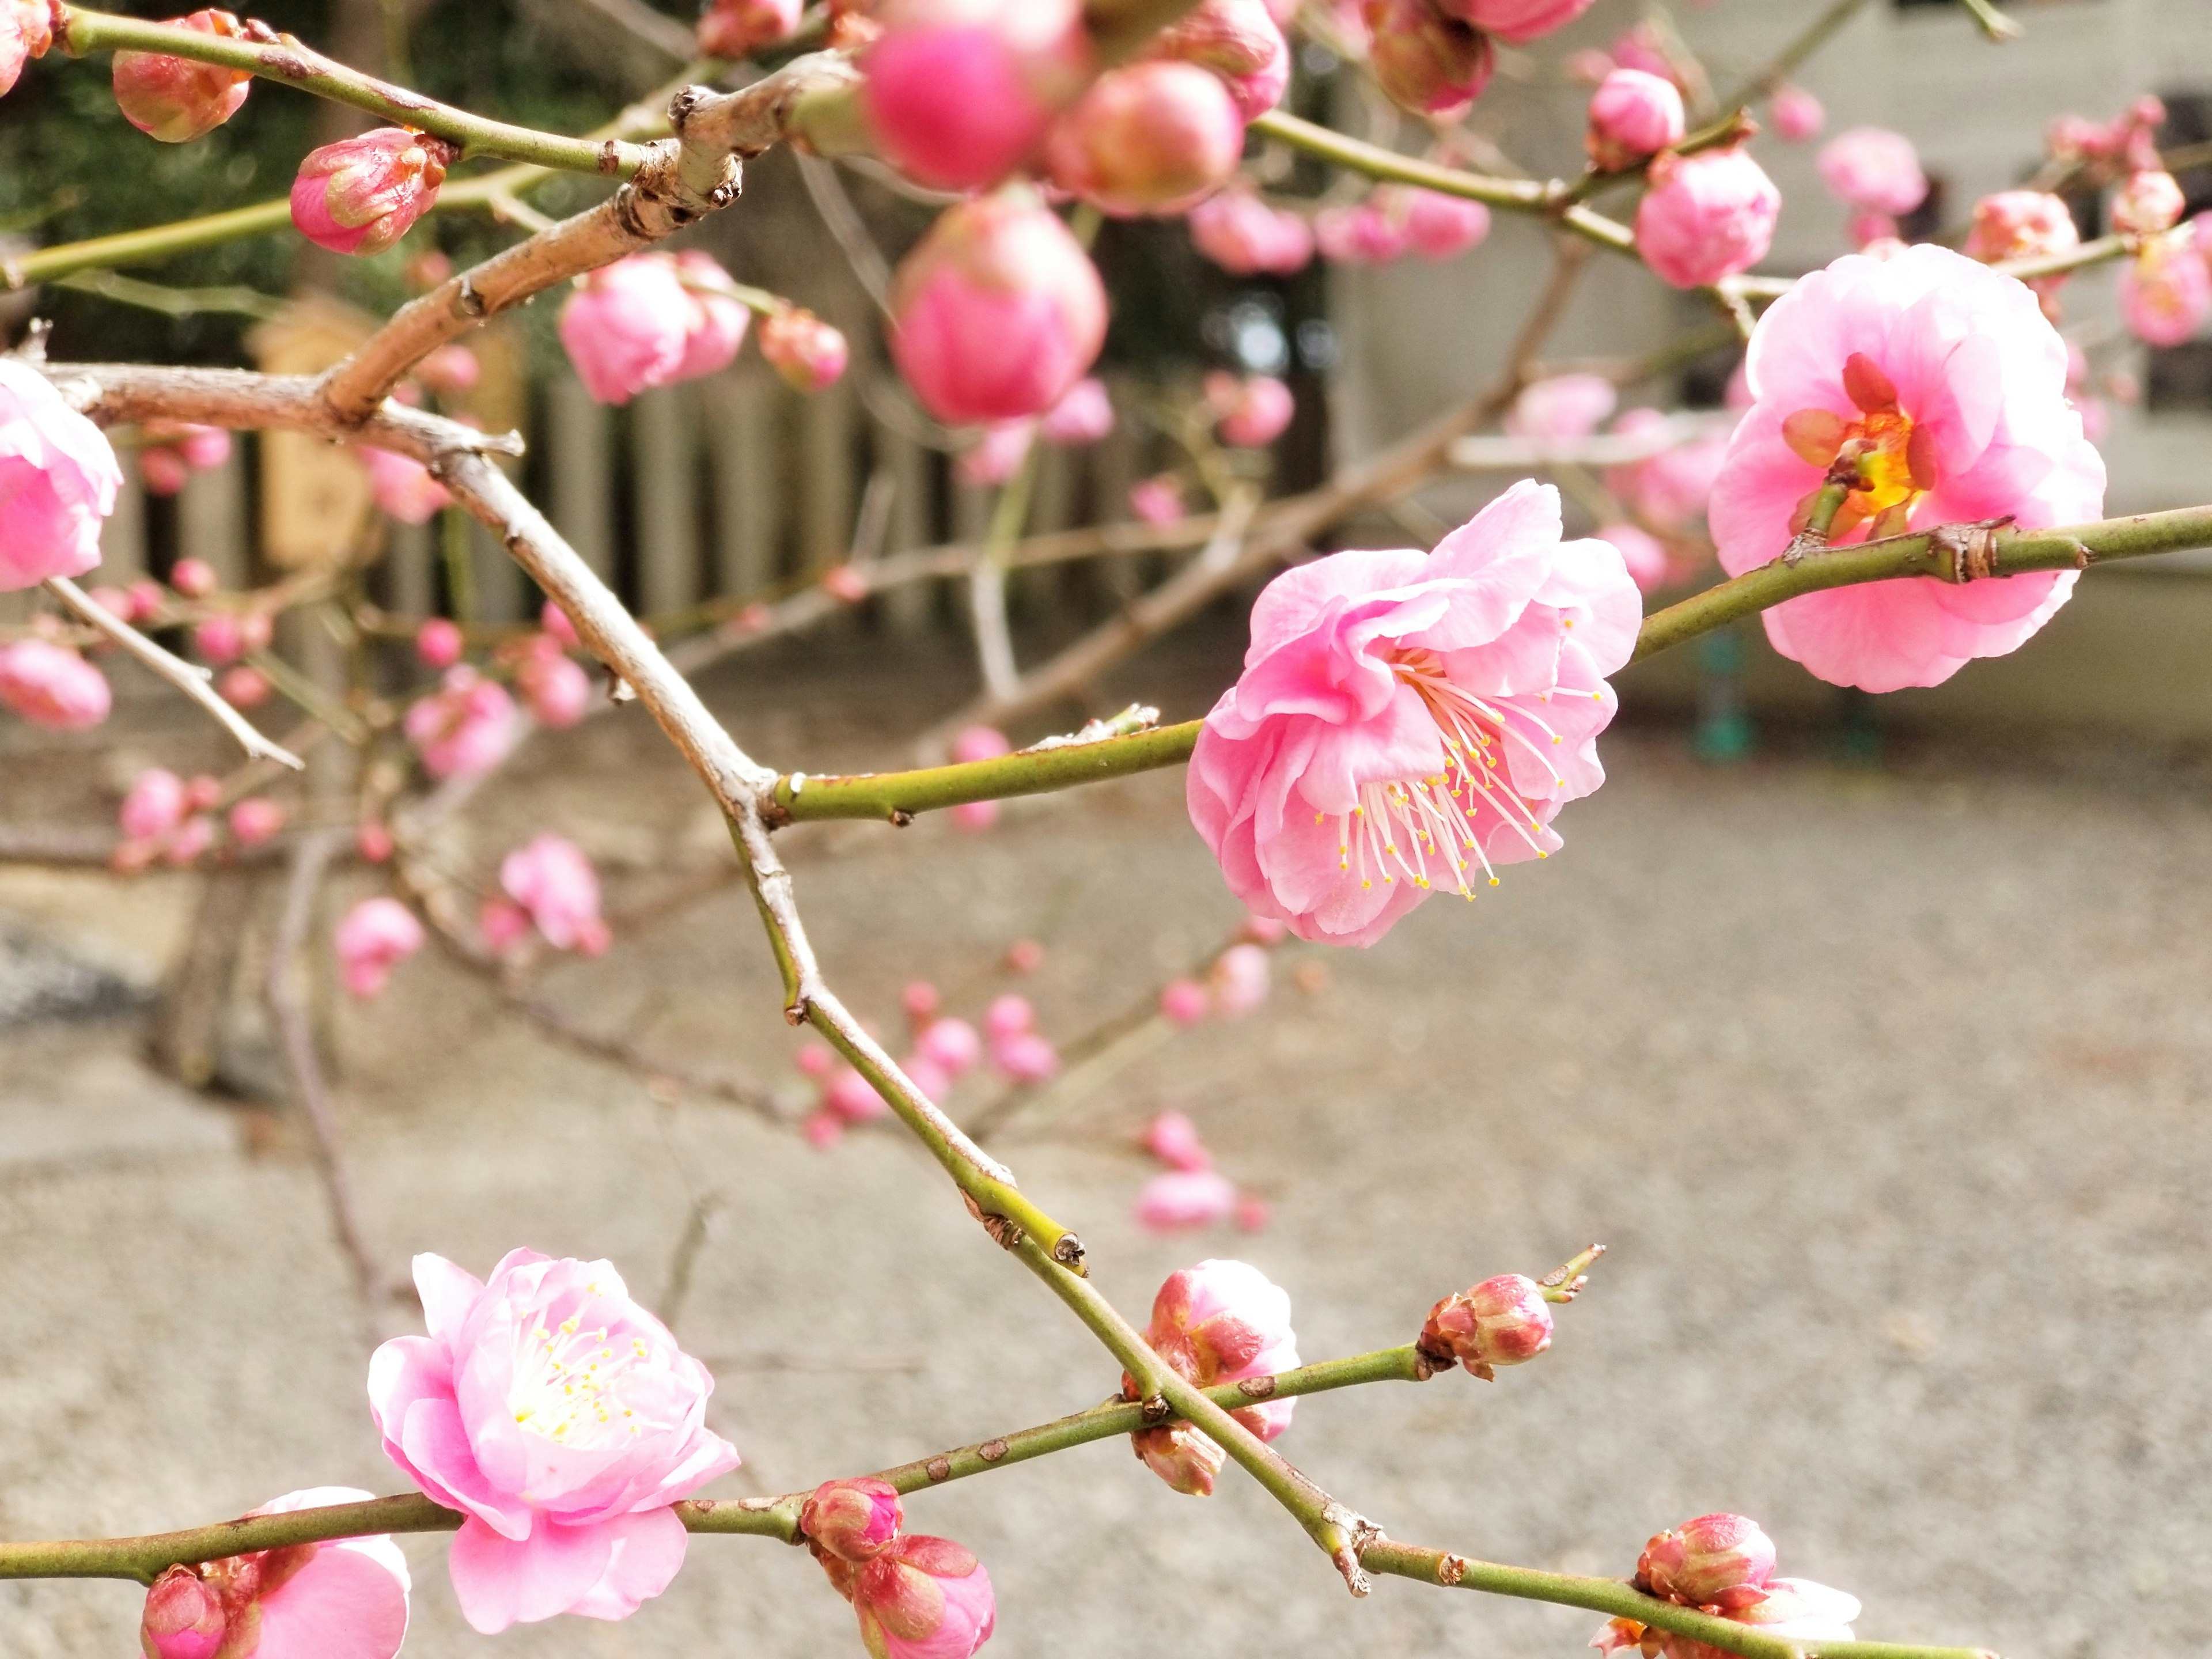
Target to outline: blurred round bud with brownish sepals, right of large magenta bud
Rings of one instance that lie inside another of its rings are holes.
[[[1053,124],[1053,184],[1119,219],[1177,215],[1237,173],[1243,119],[1228,86],[1197,64],[1108,69]]]

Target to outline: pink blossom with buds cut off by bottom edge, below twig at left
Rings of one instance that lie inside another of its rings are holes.
[[[356,1504],[356,1486],[310,1486],[250,1515]],[[389,1535],[173,1566],[146,1593],[148,1659],[392,1659],[407,1639],[407,1557]]]

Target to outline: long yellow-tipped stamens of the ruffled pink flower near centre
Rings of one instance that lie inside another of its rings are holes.
[[[1356,874],[1360,887],[1374,887],[1378,878],[1389,887],[1405,876],[1420,889],[1442,880],[1462,898],[1473,898],[1469,876],[1475,865],[1486,885],[1498,885],[1484,843],[1500,823],[1511,825],[1537,858],[1551,858],[1540,841],[1544,823],[1513,787],[1504,757],[1513,748],[1535,757],[1553,772],[1553,787],[1564,787],[1566,779],[1557,776],[1551,759],[1553,745],[1564,739],[1531,708],[1455,686],[1433,650],[1396,648],[1387,657],[1391,672],[1413,688],[1436,721],[1444,739],[1444,770],[1425,779],[1363,783],[1358,805],[1336,814],[1336,867]],[[1559,695],[1553,686],[1535,701],[1548,703]],[[1314,814],[1316,825],[1325,821],[1327,814]]]

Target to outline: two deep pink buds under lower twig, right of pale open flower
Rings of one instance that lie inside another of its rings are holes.
[[[799,1509],[799,1531],[852,1601],[874,1659],[969,1659],[991,1639],[991,1575],[949,1537],[907,1533],[889,1482],[825,1480]]]

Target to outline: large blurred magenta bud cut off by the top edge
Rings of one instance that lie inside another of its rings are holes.
[[[945,190],[1033,157],[1093,73],[1079,0],[885,0],[876,20],[869,124],[891,166]]]

